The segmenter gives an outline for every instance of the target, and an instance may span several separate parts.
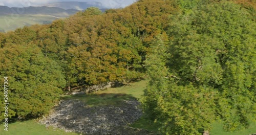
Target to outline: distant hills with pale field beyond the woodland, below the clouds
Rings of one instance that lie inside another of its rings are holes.
[[[63,5],[72,6],[74,3],[65,3]],[[87,5],[85,9],[91,7]],[[62,6],[60,6],[62,7]],[[101,9],[104,12],[106,9]],[[82,10],[76,9],[62,9],[58,7],[25,7],[25,8],[9,8],[7,6],[0,6],[0,31],[8,32],[24,26],[31,26],[35,24],[50,24],[53,20],[58,18],[65,18],[76,14]]]

